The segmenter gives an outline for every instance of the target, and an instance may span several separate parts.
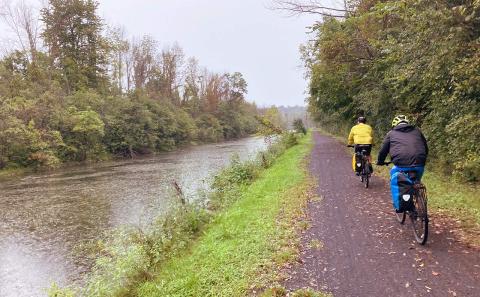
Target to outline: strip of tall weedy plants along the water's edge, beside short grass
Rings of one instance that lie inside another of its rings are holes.
[[[104,240],[95,243],[99,257],[85,286],[59,288],[54,284],[48,296],[135,295],[138,284],[154,279],[162,263],[189,248],[206,226],[218,219],[217,214],[240,199],[242,190],[295,144],[297,136],[287,133],[252,160],[241,162],[234,157],[230,166],[214,176],[211,191],[206,193],[204,200],[178,202],[146,230],[112,231]]]

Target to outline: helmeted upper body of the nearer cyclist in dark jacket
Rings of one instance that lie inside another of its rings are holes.
[[[396,116],[392,121],[392,130],[387,133],[378,153],[377,165],[385,165],[390,153],[393,166],[390,175],[398,171],[416,171],[417,178],[423,176],[428,156],[428,145],[422,131],[410,125],[404,115]]]

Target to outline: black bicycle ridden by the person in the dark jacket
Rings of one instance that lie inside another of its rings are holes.
[[[385,166],[392,162],[385,162]],[[412,222],[413,233],[417,243],[424,245],[428,239],[428,210],[427,210],[427,188],[417,179],[416,171],[403,171],[407,174],[409,179],[413,181],[411,195],[412,195],[412,209],[403,212],[395,212],[397,221],[400,224],[405,224],[405,219],[408,216]]]

